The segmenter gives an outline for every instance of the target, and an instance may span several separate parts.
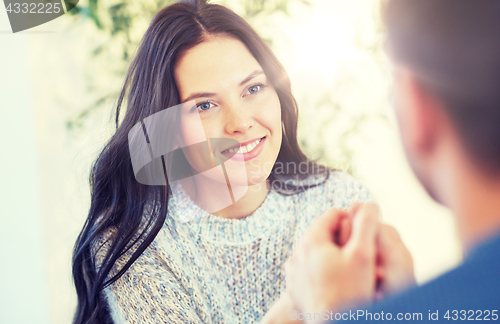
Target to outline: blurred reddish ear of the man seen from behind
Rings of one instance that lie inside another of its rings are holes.
[[[408,68],[398,69],[396,88],[396,114],[404,145],[414,154],[427,155],[439,140],[440,103]]]

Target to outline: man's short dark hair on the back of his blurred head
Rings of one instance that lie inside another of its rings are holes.
[[[389,0],[389,49],[442,101],[466,150],[500,174],[500,0]]]

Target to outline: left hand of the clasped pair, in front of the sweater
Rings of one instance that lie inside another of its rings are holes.
[[[321,313],[373,299],[379,210],[371,203],[353,210],[353,218],[332,209],[317,219],[285,265],[287,289],[300,311]],[[351,235],[341,247],[335,237],[346,240],[339,230],[351,218]]]

